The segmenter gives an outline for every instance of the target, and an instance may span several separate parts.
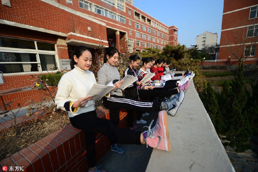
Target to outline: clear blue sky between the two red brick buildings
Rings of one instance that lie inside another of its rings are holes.
[[[133,0],[133,5],[150,16],[178,28],[178,42],[191,47],[203,32],[218,33],[220,42],[223,0]],[[172,13],[172,14],[171,14]]]

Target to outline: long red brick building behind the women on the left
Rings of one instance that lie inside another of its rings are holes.
[[[32,86],[32,74],[70,69],[69,52],[78,45],[96,53],[100,45],[121,52],[162,50],[177,45],[177,31],[134,7],[132,0],[1,1],[0,71],[6,84],[0,85],[0,107],[40,100],[36,90],[21,88]]]

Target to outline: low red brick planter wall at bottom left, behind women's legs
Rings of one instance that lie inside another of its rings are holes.
[[[97,109],[97,115],[102,119],[109,119],[108,109]],[[126,109],[121,109],[119,124],[121,128],[129,126],[126,115]],[[111,142],[106,136],[97,134],[96,161],[110,149],[110,146]],[[70,124],[2,160],[0,165],[7,166],[8,170],[11,166],[20,166],[24,172],[82,172],[89,168],[85,153],[83,131]]]

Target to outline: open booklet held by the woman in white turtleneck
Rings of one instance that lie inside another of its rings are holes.
[[[112,82],[108,85],[94,84],[86,96],[91,96],[91,100],[99,100],[114,88],[112,85]]]

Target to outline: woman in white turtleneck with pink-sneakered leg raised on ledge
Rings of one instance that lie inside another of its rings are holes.
[[[72,53],[72,70],[62,76],[55,97],[57,108],[68,111],[73,127],[84,130],[86,156],[90,172],[105,172],[95,165],[96,133],[104,134],[122,144],[146,144],[150,147],[170,151],[167,113],[160,111],[155,127],[145,132],[134,132],[118,128],[112,122],[97,117],[95,101],[86,96],[96,83],[94,74],[89,71],[92,55],[85,46],[79,46]],[[121,85],[121,84],[120,84]],[[116,84],[116,88],[120,87]],[[151,123],[152,124],[152,123]]]

